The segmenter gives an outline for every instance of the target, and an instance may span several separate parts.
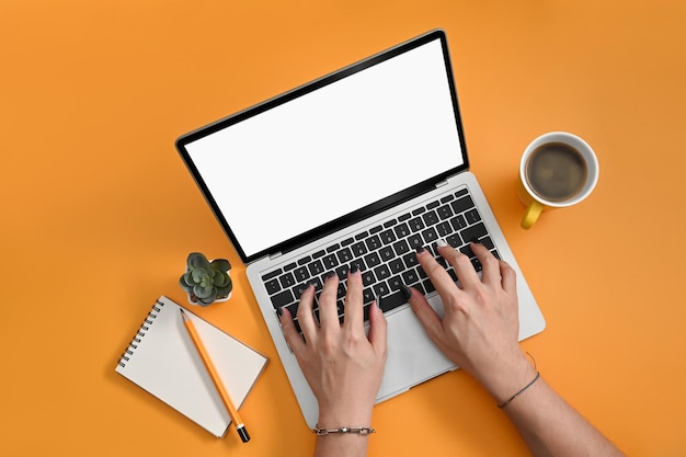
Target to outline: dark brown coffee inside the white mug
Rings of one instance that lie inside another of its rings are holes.
[[[562,142],[539,146],[526,163],[529,187],[541,198],[564,202],[586,182],[586,162],[579,151]]]

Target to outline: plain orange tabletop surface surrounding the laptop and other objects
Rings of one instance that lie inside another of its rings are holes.
[[[0,454],[310,454],[244,267],[173,141],[443,27],[472,170],[548,320],[523,346],[627,453],[683,455],[685,23],[682,0],[3,0]],[[525,231],[519,156],[557,129],[595,148],[599,183]],[[195,310],[271,358],[242,408],[248,445],[114,372],[160,294],[185,302],[193,250],[227,256],[236,283]],[[378,405],[374,426],[371,456],[527,455],[460,372]]]

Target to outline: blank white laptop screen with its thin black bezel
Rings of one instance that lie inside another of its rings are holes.
[[[178,147],[249,262],[466,168],[462,141],[438,31],[182,137]]]

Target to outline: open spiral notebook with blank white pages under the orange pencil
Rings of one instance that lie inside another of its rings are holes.
[[[161,296],[122,355],[115,370],[176,411],[222,437],[231,423],[221,398],[183,325],[180,306]],[[237,408],[267,358],[184,309]]]

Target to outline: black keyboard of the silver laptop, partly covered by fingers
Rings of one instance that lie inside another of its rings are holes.
[[[400,292],[401,284],[424,295],[435,290],[416,261],[416,248],[428,250],[446,267],[453,281],[457,281],[453,267],[436,252],[436,241],[441,238],[467,254],[477,272],[481,271],[481,264],[469,248],[470,241],[478,240],[500,259],[471,196],[467,188],[461,188],[283,265],[263,275],[262,281],[274,309],[288,308],[300,331],[296,318],[300,294],[309,284],[317,292],[321,290],[329,272],[335,272],[340,279],[338,311],[339,320],[343,322],[347,272],[351,265],[357,264],[362,272],[366,322],[369,305],[377,296],[382,297],[384,312],[407,302]],[[313,312],[319,320],[318,300],[316,294]]]

